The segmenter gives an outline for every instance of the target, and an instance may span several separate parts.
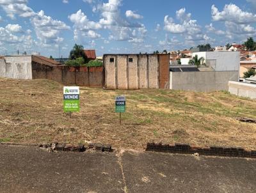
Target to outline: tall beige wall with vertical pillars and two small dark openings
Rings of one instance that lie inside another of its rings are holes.
[[[158,89],[160,82],[161,88],[169,88],[169,58],[169,54],[104,55],[105,88]]]

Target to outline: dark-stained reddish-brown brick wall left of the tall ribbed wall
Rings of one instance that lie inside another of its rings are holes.
[[[70,67],[42,65],[32,62],[33,79],[50,79],[64,85],[78,85],[102,88],[104,80],[103,67]]]

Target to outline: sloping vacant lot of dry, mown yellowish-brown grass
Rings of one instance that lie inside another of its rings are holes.
[[[256,149],[256,101],[225,92],[81,88],[81,112],[63,113],[63,86],[49,80],[0,79],[0,142],[109,143],[142,149],[148,142]],[[127,112],[115,113],[115,96]]]

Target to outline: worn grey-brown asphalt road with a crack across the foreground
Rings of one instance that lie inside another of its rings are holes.
[[[0,145],[0,192],[256,192],[256,160]]]

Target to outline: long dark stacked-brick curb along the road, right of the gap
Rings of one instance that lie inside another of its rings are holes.
[[[164,153],[180,153],[180,154],[195,154],[210,155],[220,157],[243,157],[243,158],[256,158],[256,151],[246,151],[243,148],[224,148],[224,147],[210,147],[198,148],[189,146],[189,144],[156,144],[148,143],[145,151],[157,151]]]

